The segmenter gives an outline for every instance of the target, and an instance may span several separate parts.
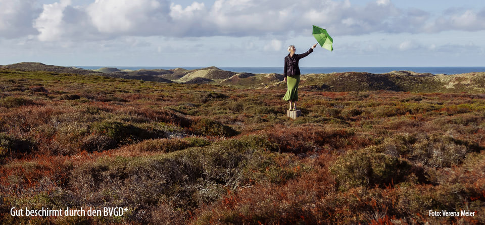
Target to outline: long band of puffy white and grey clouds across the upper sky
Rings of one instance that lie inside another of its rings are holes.
[[[390,0],[366,5],[352,5],[349,0],[216,0],[210,6],[192,2],[186,7],[169,5],[168,0],[91,1],[85,6],[73,6],[71,1],[60,0],[43,5],[39,15],[35,13],[34,0],[0,0],[9,6],[0,12],[0,36],[38,33],[41,41],[100,40],[126,35],[287,39],[307,35],[311,25],[327,29],[333,36],[485,30],[485,10],[455,10],[433,17],[420,9],[397,8]],[[30,19],[18,15],[24,11],[29,12]]]

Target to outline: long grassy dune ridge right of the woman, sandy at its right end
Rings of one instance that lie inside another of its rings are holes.
[[[284,82],[282,82],[284,83]],[[415,72],[371,74],[360,72],[310,74],[302,76],[300,86],[322,91],[409,91],[409,92],[485,92],[485,73],[432,75]],[[285,85],[275,84],[275,88]]]

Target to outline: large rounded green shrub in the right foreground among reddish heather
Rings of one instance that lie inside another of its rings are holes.
[[[405,180],[410,170],[407,161],[369,149],[350,151],[330,168],[340,190],[397,184]]]

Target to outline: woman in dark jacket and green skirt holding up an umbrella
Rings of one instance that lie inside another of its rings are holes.
[[[318,44],[318,43],[317,43]],[[295,54],[295,46],[290,45],[288,47],[289,54],[284,58],[284,82],[288,87],[283,100],[289,101],[288,110],[297,110],[298,101],[298,84],[300,84],[300,67],[298,67],[298,62],[300,59],[306,57],[308,54],[313,52],[313,49],[317,46],[314,44],[307,52],[303,54]]]

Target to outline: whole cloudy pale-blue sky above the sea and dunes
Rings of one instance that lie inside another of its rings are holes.
[[[0,65],[485,66],[485,1],[0,0]]]

